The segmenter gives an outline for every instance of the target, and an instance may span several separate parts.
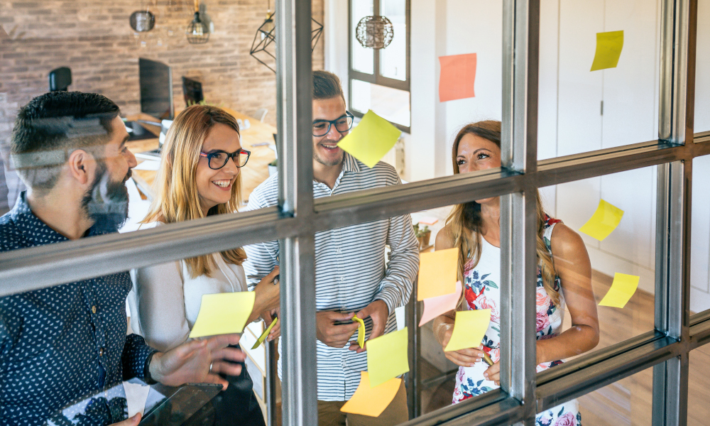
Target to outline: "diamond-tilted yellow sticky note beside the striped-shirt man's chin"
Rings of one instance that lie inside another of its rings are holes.
[[[373,168],[390,151],[402,132],[373,111],[367,111],[338,146]]]

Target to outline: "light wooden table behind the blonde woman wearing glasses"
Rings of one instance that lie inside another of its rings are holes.
[[[241,119],[242,122],[249,120],[251,126],[249,129],[239,129],[241,136],[241,146],[247,151],[251,151],[251,156],[249,157],[249,163],[241,168],[241,196],[244,202],[249,200],[249,195],[261,182],[268,178],[268,163],[271,163],[275,158],[276,154],[269,146],[252,146],[256,143],[268,142],[274,145],[273,135],[276,133],[276,128],[268,124],[262,123],[258,119],[246,116],[240,112],[233,111],[228,108],[224,108],[225,111],[229,112],[234,118]],[[177,115],[177,113],[175,114]],[[146,114],[136,114],[133,116],[126,117],[129,121],[135,120],[146,120],[155,121],[155,119]],[[156,126],[145,126],[148,131],[155,134],[155,138],[143,139],[140,141],[129,141],[126,143],[129,150],[133,153],[143,153],[146,151],[151,151],[158,148],[158,134],[160,133],[160,128]],[[137,158],[138,163],[142,163],[144,160],[142,158]],[[153,190],[153,180],[155,180],[155,174],[157,172],[153,170],[133,170],[133,180],[136,181],[136,185],[143,191],[149,198],[152,198],[155,194]]]

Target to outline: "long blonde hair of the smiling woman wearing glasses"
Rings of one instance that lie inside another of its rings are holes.
[[[155,177],[155,198],[151,202],[146,218],[141,223],[183,222],[204,217],[197,192],[197,162],[200,160],[202,143],[215,124],[225,124],[239,134],[239,124],[228,112],[208,105],[192,105],[182,111],[165,135],[160,168]],[[241,173],[231,188],[231,197],[225,204],[217,204],[209,209],[207,216],[234,213],[241,204]],[[222,251],[226,263],[241,265],[246,261],[244,249]],[[200,275],[212,276],[217,268],[212,255],[185,259],[192,278]]]

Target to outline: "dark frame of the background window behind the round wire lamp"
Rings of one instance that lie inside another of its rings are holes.
[[[352,37],[353,37],[353,23],[352,23],[352,3],[354,0],[348,0],[348,105],[353,104],[353,90],[352,90],[352,81],[353,80],[360,80],[363,82],[368,82],[371,84],[378,84],[380,86],[385,86],[385,87],[391,87],[392,89],[399,89],[403,90],[405,92],[410,92],[410,34],[411,34],[411,9],[410,9],[410,3],[411,0],[405,0],[405,13],[407,15],[406,17],[406,25],[407,25],[407,43],[406,43],[406,50],[407,50],[407,65],[406,65],[406,73],[407,73],[407,78],[402,81],[402,80],[395,80],[393,78],[388,78],[384,77],[383,75],[380,74],[380,51],[379,50],[372,50],[372,55],[373,55],[373,73],[368,74],[367,72],[361,72],[358,70],[353,69],[353,49],[352,49]],[[356,1],[356,0],[355,0]],[[372,0],[372,8],[375,11],[378,11],[378,13],[381,11],[380,9],[380,0]],[[411,99],[411,94],[410,94],[410,121],[411,121],[411,116],[412,116],[412,99]],[[352,110],[351,111],[354,116],[362,118],[364,115],[360,111]],[[407,133],[411,132],[411,126],[403,126],[402,124],[398,123],[392,123],[397,129],[400,129],[401,131],[405,131]]]

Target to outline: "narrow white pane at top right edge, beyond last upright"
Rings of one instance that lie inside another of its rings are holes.
[[[710,0],[698,1],[695,57],[695,133],[710,131]]]

